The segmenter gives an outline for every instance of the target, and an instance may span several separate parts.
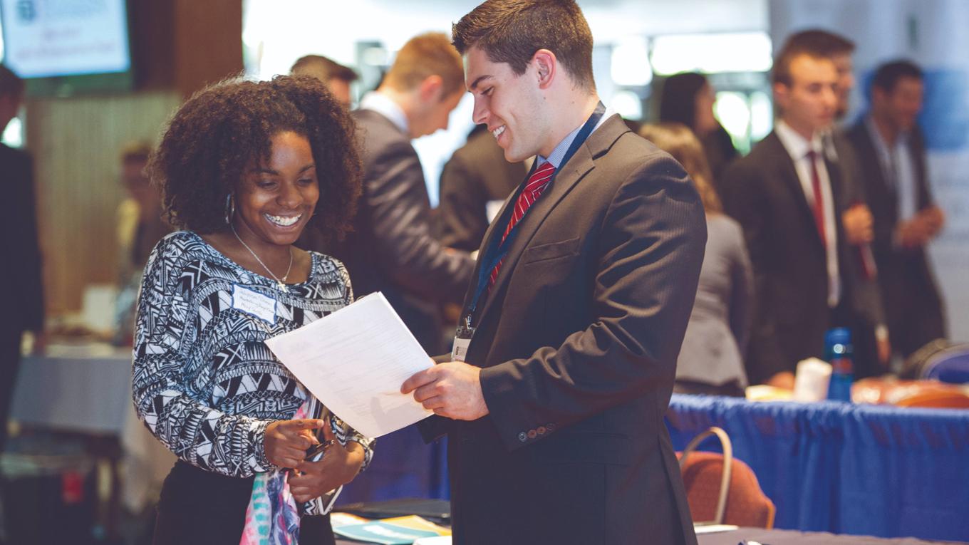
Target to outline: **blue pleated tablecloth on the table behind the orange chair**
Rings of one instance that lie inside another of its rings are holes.
[[[726,430],[777,528],[969,541],[967,410],[674,395],[667,421],[677,449]]]

